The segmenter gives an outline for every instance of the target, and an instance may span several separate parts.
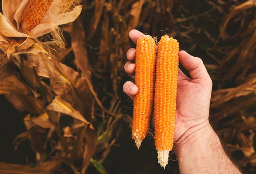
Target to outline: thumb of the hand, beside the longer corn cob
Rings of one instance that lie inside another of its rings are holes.
[[[201,58],[189,55],[185,51],[180,51],[180,63],[189,72],[192,81],[200,84],[212,84],[212,80],[207,73]]]

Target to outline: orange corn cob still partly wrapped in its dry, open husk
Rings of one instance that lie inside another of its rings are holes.
[[[21,29],[31,31],[42,22],[53,0],[31,0],[22,15]]]

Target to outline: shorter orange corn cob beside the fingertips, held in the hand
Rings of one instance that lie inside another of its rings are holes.
[[[138,92],[134,96],[132,138],[138,149],[149,130],[154,96],[155,62],[155,41],[151,36],[144,35],[137,41],[135,65],[135,84]]]

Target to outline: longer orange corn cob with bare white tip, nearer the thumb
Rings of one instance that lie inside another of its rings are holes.
[[[155,145],[158,163],[168,164],[175,131],[175,110],[179,66],[179,43],[168,35],[157,45],[157,66],[154,97]]]

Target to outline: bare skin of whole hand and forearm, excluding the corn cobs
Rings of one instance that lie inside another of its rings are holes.
[[[144,34],[131,30],[129,37],[136,44]],[[135,52],[127,52],[128,62],[125,72],[134,78]],[[180,69],[178,72],[175,143],[180,174],[191,173],[232,173],[241,174],[239,169],[225,153],[221,141],[209,124],[209,104],[212,92],[212,80],[203,61],[185,51],[179,53],[180,63],[189,72],[188,78]],[[123,91],[131,98],[137,93],[137,86],[131,81],[125,82]],[[151,114],[154,127],[154,112]]]

